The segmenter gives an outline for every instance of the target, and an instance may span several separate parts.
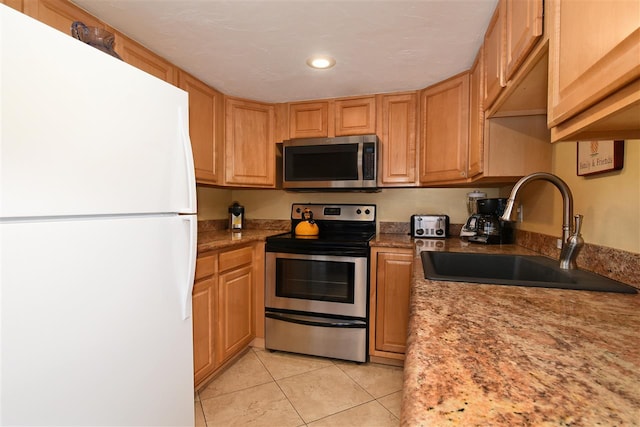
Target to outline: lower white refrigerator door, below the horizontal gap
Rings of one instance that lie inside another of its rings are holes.
[[[0,425],[193,425],[194,224],[0,223]]]

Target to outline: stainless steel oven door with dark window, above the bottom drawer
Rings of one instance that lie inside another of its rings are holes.
[[[265,307],[367,317],[366,256],[266,253]]]

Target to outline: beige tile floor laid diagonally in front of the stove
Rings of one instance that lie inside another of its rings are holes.
[[[196,394],[196,426],[398,426],[402,368],[252,348]]]

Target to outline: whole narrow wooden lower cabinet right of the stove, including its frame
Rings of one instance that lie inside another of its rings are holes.
[[[371,249],[369,355],[404,360],[413,251]]]

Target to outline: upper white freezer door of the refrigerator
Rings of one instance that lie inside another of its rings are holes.
[[[194,213],[187,93],[0,5],[0,218]]]

